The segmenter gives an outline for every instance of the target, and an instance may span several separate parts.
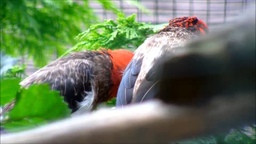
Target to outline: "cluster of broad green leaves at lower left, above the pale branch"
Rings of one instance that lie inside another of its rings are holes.
[[[1,79],[1,106],[15,99],[14,107],[5,113],[5,120],[1,122],[5,130],[26,130],[70,115],[59,91],[51,91],[47,84],[19,89],[19,82],[19,78]]]

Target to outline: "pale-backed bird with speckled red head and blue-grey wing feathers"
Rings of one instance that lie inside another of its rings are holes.
[[[141,103],[157,95],[158,81],[152,81],[157,61],[184,45],[190,39],[209,33],[208,26],[196,16],[179,17],[157,34],[147,38],[134,52],[126,67],[117,92],[116,106]]]

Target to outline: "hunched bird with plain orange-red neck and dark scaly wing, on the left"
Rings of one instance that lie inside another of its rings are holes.
[[[60,91],[71,113],[93,110],[99,103],[115,98],[122,74],[133,52],[118,49],[79,51],[54,60],[20,82],[25,89],[32,84],[50,85]]]

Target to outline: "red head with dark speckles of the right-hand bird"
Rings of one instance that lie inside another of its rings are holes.
[[[202,21],[197,19],[196,17],[180,17],[175,18],[169,21],[169,25],[166,26],[161,31],[167,31],[170,27],[180,27],[186,28],[187,30],[191,31],[195,34],[206,34],[209,33],[209,28],[207,25]]]

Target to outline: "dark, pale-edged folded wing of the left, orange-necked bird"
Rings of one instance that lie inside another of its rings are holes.
[[[39,69],[20,84],[28,87],[34,83],[48,83],[51,90],[60,91],[69,108],[76,110],[77,102],[83,101],[86,92],[91,91],[93,73],[90,60],[61,58]]]

